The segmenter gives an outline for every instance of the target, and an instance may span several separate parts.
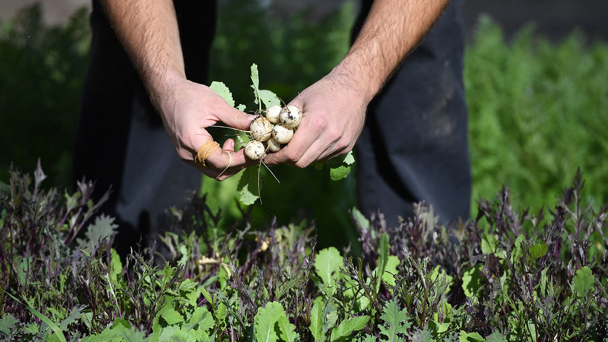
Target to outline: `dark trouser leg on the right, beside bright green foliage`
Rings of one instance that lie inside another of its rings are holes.
[[[364,1],[362,9],[369,9]],[[432,204],[442,223],[469,217],[471,167],[463,85],[463,1],[444,11],[368,107],[355,146],[358,199],[389,225],[410,217],[412,203]],[[359,17],[356,36],[365,18]]]

